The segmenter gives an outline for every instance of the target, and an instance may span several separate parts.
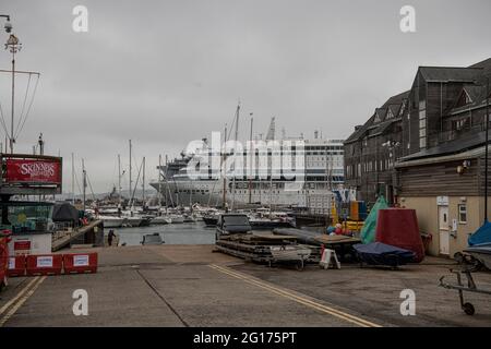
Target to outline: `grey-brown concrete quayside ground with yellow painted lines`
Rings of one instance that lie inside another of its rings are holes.
[[[438,286],[451,261],[428,258],[400,270],[308,266],[303,272],[247,263],[213,245],[94,249],[97,274],[11,278],[0,293],[4,326],[491,326],[491,297]],[[454,278],[451,278],[454,280]],[[491,289],[491,274],[476,281]],[[88,294],[75,316],[72,293]],[[416,315],[399,312],[412,289]]]

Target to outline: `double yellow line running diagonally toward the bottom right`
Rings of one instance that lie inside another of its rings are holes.
[[[288,291],[286,289],[268,285],[268,284],[263,282],[261,280],[251,278],[250,276],[248,276],[246,274],[242,274],[242,273],[239,273],[239,272],[236,272],[236,270],[231,270],[230,268],[218,266],[216,264],[211,264],[209,267],[212,267],[212,268],[214,268],[214,269],[216,269],[218,272],[221,272],[224,274],[227,274],[229,276],[232,276],[235,278],[241,279],[241,280],[243,280],[243,281],[246,281],[248,284],[251,284],[251,285],[254,285],[254,286],[260,287],[262,289],[268,290],[270,292],[273,292],[273,293],[279,294],[279,296],[282,296],[284,298],[287,298],[289,300],[296,301],[297,303],[300,303],[300,304],[310,306],[312,309],[315,309],[315,310],[318,310],[318,311],[320,311],[322,313],[326,313],[326,314],[330,314],[332,316],[335,316],[335,317],[338,317],[340,320],[344,320],[346,322],[352,323],[355,325],[358,325],[358,326],[361,326],[361,327],[382,327],[379,324],[369,322],[369,321],[367,321],[364,318],[361,318],[361,317],[348,314],[346,312],[343,312],[340,310],[337,310],[337,309],[334,309],[334,308],[321,304],[319,302],[314,302],[314,301],[312,301],[312,300],[310,300],[308,298],[297,296],[297,294],[295,294],[295,293],[292,293],[292,292],[290,292],[290,291]]]

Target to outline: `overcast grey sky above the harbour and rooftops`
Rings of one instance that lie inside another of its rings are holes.
[[[72,29],[79,4],[88,33]],[[399,29],[405,4],[416,33]],[[491,57],[489,0],[3,0],[0,13],[23,43],[17,69],[41,73],[16,151],[31,153],[43,132],[46,153],[63,156],[65,192],[71,153],[79,172],[85,158],[96,192],[117,182],[118,154],[128,166],[130,139],[134,161],[146,156],[156,178],[158,154],[230,124],[239,98],[242,137],[250,112],[256,133],[275,116],[278,133],[347,137],[410,87],[418,65]],[[10,60],[0,51],[1,69]],[[9,84],[0,74],[8,125]],[[17,110],[26,85],[20,76]]]

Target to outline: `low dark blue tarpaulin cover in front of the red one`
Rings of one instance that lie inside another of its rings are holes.
[[[352,246],[358,256],[367,264],[397,266],[414,262],[412,251],[392,246],[382,242],[358,243]]]

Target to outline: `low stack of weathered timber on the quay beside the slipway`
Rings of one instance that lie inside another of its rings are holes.
[[[294,236],[265,231],[221,234],[215,244],[220,252],[258,263],[271,263],[274,260],[271,246],[304,246],[298,244],[297,238]],[[312,245],[308,248],[312,252],[306,262],[319,263],[321,260],[321,248]]]

